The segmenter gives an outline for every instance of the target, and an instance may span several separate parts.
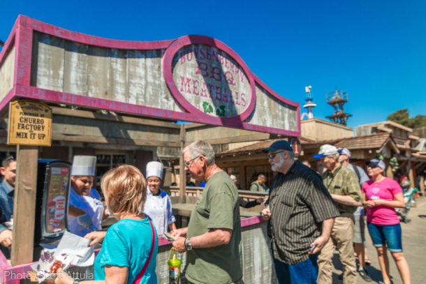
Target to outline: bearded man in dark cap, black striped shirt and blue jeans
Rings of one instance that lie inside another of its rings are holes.
[[[270,205],[262,216],[269,220],[278,281],[316,283],[316,259],[339,211],[321,177],[294,159],[290,143],[279,140],[265,151],[272,170],[277,172],[270,187]]]

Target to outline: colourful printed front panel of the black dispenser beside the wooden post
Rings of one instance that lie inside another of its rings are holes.
[[[53,164],[47,174],[47,194],[45,195],[44,234],[66,230],[66,207],[68,203],[69,166]]]

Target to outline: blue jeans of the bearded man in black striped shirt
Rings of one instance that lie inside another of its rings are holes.
[[[277,260],[272,251],[272,258],[274,260],[275,273],[279,284],[316,284],[316,277],[318,276],[318,264],[316,259],[318,253],[310,255],[308,260],[298,264],[286,264]]]

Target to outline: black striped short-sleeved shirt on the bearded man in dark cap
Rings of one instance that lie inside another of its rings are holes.
[[[270,211],[268,234],[274,257],[292,265],[308,260],[322,222],[339,216],[321,177],[298,160],[286,174],[278,172],[272,180]]]

